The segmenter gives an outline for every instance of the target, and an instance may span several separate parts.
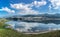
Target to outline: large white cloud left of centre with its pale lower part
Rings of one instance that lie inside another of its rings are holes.
[[[32,10],[29,4],[11,4],[12,8],[21,10],[18,14],[26,15],[26,14],[39,14],[38,11]]]

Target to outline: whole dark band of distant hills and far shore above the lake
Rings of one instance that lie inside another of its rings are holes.
[[[30,18],[28,18],[30,17]],[[34,18],[37,17],[37,18]],[[22,22],[39,22],[60,24],[60,14],[40,14],[40,15],[11,15],[3,17],[8,20]]]

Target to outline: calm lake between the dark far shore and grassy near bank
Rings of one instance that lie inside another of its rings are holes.
[[[60,30],[60,24],[55,24],[53,22],[36,23],[36,22],[9,21],[6,22],[6,24],[11,25],[12,29],[15,29],[19,32],[39,32],[39,31],[48,31],[48,30]]]

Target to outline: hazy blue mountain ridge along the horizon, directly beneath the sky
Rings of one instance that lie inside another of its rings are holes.
[[[7,15],[3,18],[9,17],[48,17],[48,18],[60,18],[60,14],[40,14],[40,15]]]

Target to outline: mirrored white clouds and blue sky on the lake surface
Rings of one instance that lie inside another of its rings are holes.
[[[48,24],[44,24],[44,23],[27,23],[27,22],[16,22],[16,21],[10,21],[7,22],[8,24],[10,24],[11,26],[13,26],[14,29],[22,29],[27,31],[28,29],[31,29],[32,31],[35,30],[49,30],[49,28],[55,29],[55,30],[60,30],[60,25],[58,24],[54,24],[54,23],[48,23]]]

